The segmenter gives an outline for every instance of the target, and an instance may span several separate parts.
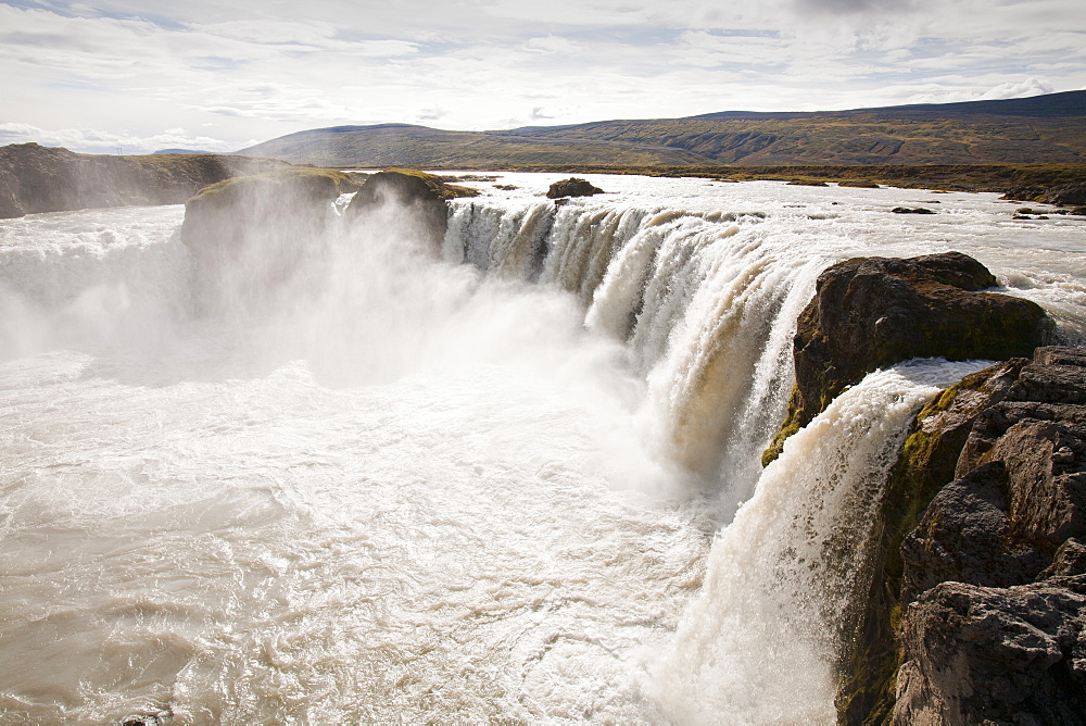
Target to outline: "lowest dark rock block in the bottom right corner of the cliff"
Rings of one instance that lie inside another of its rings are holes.
[[[1086,724],[1086,576],[909,605],[896,724]]]

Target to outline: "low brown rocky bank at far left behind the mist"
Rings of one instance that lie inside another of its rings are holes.
[[[0,147],[0,218],[100,206],[179,204],[209,184],[287,166],[249,157],[111,157],[16,143]]]

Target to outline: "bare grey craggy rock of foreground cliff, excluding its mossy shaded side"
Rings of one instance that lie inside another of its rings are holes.
[[[895,723],[1086,723],[1086,351],[1038,349],[956,475],[901,546]]]

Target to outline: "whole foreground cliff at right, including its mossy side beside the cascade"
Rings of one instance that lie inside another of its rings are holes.
[[[1086,723],[1086,350],[936,397],[881,514],[842,721]]]

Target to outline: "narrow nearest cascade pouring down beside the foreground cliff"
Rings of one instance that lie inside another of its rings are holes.
[[[788,439],[709,552],[702,592],[657,667],[682,723],[832,723],[837,650],[885,474],[910,416],[987,363],[912,361],[870,374]]]

